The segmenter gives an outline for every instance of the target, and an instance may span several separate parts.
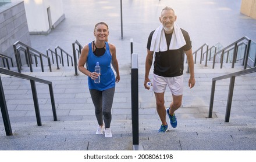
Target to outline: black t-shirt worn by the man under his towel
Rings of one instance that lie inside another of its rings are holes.
[[[183,75],[183,51],[190,50],[192,46],[188,32],[184,31],[182,28],[180,28],[180,30],[182,30],[182,34],[186,41],[186,45],[177,50],[169,50],[170,39],[172,38],[172,34],[165,34],[168,50],[159,51],[155,53],[154,73],[156,75],[164,77],[174,77]],[[150,50],[153,34],[154,31],[150,33],[150,36],[148,36],[148,50]]]

